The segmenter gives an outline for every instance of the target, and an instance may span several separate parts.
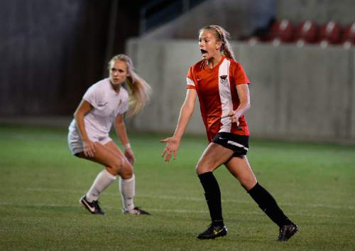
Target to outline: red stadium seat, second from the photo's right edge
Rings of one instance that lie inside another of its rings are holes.
[[[329,21],[324,23],[320,27],[319,33],[319,42],[321,46],[327,46],[330,44],[339,44],[340,43],[340,33],[342,28],[339,26],[339,23],[334,21]]]

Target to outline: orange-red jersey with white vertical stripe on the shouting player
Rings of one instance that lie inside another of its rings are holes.
[[[239,126],[231,123],[230,117],[227,116],[240,104],[236,85],[249,83],[241,64],[229,58],[223,57],[212,69],[205,60],[190,67],[186,87],[197,91],[209,141],[212,141],[218,132],[249,135],[244,115],[239,118]]]

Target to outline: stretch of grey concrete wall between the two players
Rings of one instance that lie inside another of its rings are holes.
[[[131,40],[126,48],[137,73],[153,88],[150,104],[129,125],[144,131],[173,131],[185,99],[187,70],[200,57],[196,43]],[[188,131],[204,133],[198,102],[195,111],[198,114],[192,117]]]

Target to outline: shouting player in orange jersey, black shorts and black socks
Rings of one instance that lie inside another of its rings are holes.
[[[278,240],[287,241],[297,232],[297,225],[286,217],[273,196],[256,181],[246,157],[249,129],[244,113],[250,107],[249,78],[241,64],[234,60],[227,38],[229,33],[221,26],[205,26],[200,30],[199,47],[203,59],[187,72],[185,102],[173,137],[160,140],[167,143],[162,156],[165,161],[170,161],[172,156],[176,159],[182,134],[198,97],[209,145],[197,163],[196,172],[204,188],[212,223],[197,238],[214,239],[227,233],[222,217],[221,193],[213,175],[213,171],[224,164],[278,225]]]

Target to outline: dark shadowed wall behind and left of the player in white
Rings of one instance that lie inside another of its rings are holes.
[[[148,1],[0,1],[0,116],[72,114]]]

